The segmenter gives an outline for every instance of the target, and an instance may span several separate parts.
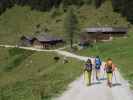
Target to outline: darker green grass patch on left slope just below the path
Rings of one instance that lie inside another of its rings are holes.
[[[32,55],[32,51],[28,52],[18,48],[13,48],[8,50],[9,56],[6,59],[6,62],[1,63],[1,71],[10,71],[13,68],[19,66],[28,56]]]

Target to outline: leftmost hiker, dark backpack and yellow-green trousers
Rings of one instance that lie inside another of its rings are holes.
[[[90,59],[88,59],[84,67],[84,79],[86,85],[91,85],[91,74],[92,74],[92,62]]]

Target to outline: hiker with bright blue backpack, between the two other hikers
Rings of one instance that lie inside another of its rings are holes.
[[[95,58],[95,70],[96,70],[96,79],[99,80],[100,76],[100,68],[101,68],[101,60],[99,56],[96,56]]]

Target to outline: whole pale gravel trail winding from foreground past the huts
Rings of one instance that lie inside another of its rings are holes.
[[[14,48],[15,46],[9,45],[0,45],[2,47]],[[79,60],[86,61],[88,57],[78,56],[67,51],[62,50],[42,50],[28,47],[19,47],[27,50],[35,50],[35,51],[50,51],[56,52],[60,55],[64,55],[67,57],[73,57]],[[93,60],[92,58],[90,58]],[[104,64],[104,63],[103,63]],[[93,76],[95,77],[95,72],[93,71]],[[104,77],[103,77],[104,76]],[[77,80],[72,82],[68,90],[65,91],[61,96],[57,98],[53,98],[53,100],[133,100],[133,95],[129,90],[129,84],[127,81],[123,79],[120,75],[119,71],[115,72],[115,77],[113,77],[113,87],[109,88],[106,85],[106,74],[101,69],[101,81],[96,81],[94,77],[92,77],[92,86],[87,87],[84,84],[83,75],[79,77]]]

